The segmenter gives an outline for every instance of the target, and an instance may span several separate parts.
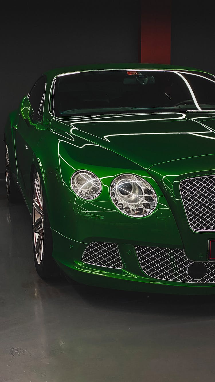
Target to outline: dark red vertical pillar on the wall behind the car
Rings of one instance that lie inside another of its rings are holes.
[[[170,64],[171,0],[141,0],[141,62]]]

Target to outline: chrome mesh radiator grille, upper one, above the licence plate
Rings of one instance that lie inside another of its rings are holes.
[[[183,180],[180,192],[194,231],[215,231],[215,175]]]

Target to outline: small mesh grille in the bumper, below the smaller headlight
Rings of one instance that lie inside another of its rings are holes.
[[[91,243],[82,255],[87,264],[120,269],[123,267],[118,246],[115,243]]]

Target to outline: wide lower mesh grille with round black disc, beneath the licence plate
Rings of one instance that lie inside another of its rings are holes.
[[[136,246],[136,252],[143,272],[150,277],[184,283],[215,283],[215,263],[205,262],[207,274],[194,280],[187,273],[192,261],[181,249]]]

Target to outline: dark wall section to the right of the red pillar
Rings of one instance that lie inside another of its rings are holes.
[[[172,1],[171,63],[215,74],[215,6],[210,1]]]

